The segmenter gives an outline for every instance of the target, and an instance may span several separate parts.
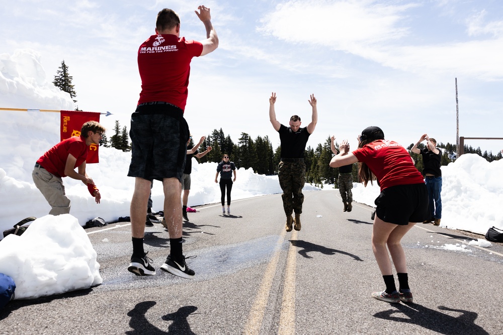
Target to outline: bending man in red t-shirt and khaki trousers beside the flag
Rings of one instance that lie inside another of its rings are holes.
[[[96,198],[96,203],[100,203],[100,191],[86,173],[86,159],[89,146],[99,145],[105,131],[106,129],[96,121],[86,122],[80,129],[80,136],[59,142],[37,160],[32,177],[35,186],[52,207],[49,214],[70,212],[70,199],[65,195],[61,179],[66,176],[81,180]],[[78,168],[78,171],[75,171],[75,168]]]

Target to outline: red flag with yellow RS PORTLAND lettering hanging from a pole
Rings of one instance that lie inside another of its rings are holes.
[[[100,113],[79,110],[61,110],[61,141],[80,136],[82,125],[88,121],[100,122]],[[98,145],[89,146],[89,154],[86,163],[98,163]]]

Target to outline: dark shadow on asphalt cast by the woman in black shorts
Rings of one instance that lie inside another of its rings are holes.
[[[390,321],[417,324],[444,335],[488,334],[482,327],[475,324],[475,319],[477,318],[477,313],[475,312],[444,306],[438,307],[441,310],[461,313],[461,315],[454,317],[415,303],[407,305],[396,304],[393,306],[396,306],[397,309],[384,310],[375,313],[374,316]],[[395,313],[403,314],[403,316],[392,316]]]

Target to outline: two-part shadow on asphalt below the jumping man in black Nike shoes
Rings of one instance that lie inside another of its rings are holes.
[[[140,335],[140,334],[187,334],[195,335],[191,330],[189,321],[187,317],[197,310],[196,306],[183,306],[180,307],[175,313],[170,313],[163,315],[161,318],[165,321],[173,321],[168,327],[167,331],[161,330],[151,324],[145,314],[146,312],[156,304],[155,301],[143,301],[137,303],[132,310],[130,310],[127,315],[131,317],[129,320],[129,326],[133,330],[128,330],[125,333],[127,335]]]

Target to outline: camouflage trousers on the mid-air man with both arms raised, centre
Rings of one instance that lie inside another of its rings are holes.
[[[304,194],[302,188],[306,182],[306,164],[302,162],[280,162],[278,165],[278,179],[283,190],[283,209],[285,214],[291,215],[292,211],[302,213]]]

